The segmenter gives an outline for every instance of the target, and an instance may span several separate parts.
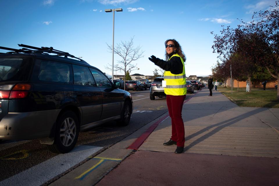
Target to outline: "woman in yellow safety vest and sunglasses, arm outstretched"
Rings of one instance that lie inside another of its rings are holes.
[[[171,139],[165,142],[164,145],[176,144],[175,153],[179,154],[183,152],[185,143],[184,123],[181,112],[187,92],[184,65],[186,58],[176,40],[169,39],[165,41],[165,47],[166,61],[153,55],[148,59],[165,70],[165,85],[164,83],[162,84],[167,95],[167,106],[171,117]]]

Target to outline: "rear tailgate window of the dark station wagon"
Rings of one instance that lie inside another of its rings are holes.
[[[31,67],[31,58],[0,58],[0,82],[27,81]]]

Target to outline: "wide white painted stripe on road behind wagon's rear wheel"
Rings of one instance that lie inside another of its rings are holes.
[[[40,186],[62,174],[103,147],[81,145],[71,152],[59,154],[45,162],[35,165],[19,174],[0,182],[0,185]]]

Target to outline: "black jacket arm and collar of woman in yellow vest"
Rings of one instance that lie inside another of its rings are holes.
[[[170,53],[169,58],[175,53]],[[181,74],[183,72],[183,64],[180,57],[174,56],[170,60],[158,60],[155,65],[161,67],[165,71],[171,71],[172,74]]]

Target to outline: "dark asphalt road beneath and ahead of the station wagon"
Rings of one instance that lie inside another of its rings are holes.
[[[103,147],[92,155],[95,156],[168,111],[166,98],[150,100],[149,90],[130,93],[133,97],[134,111],[128,126],[120,127],[116,122],[109,122],[81,132],[76,146]],[[190,95],[187,94],[187,97]],[[4,140],[0,142],[0,181],[56,156],[57,154],[51,153],[45,145],[40,144],[39,140]],[[85,161],[86,159],[78,165]]]

